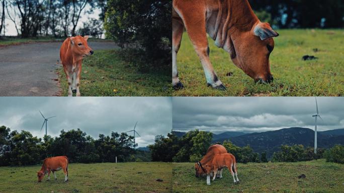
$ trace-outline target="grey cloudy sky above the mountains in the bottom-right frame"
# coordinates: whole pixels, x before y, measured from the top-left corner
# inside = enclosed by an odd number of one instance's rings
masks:
[[[317,98],[318,130],[344,128],[344,98]],[[261,132],[289,127],[314,129],[314,97],[173,98],[173,129]]]

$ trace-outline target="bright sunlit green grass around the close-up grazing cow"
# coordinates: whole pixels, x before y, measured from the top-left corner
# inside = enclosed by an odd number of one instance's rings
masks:
[[[178,53],[178,72],[185,89],[175,96],[343,96],[344,30],[277,30],[275,50],[270,56],[274,82],[255,84],[253,79],[234,66],[229,54],[217,48],[209,38],[210,59],[227,87],[214,90],[206,85],[201,62],[187,33]],[[319,51],[314,52],[317,48]],[[318,60],[302,61],[314,55]],[[233,72],[232,76],[226,76]]]

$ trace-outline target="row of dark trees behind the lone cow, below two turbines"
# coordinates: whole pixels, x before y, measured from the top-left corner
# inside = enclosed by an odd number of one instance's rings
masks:
[[[112,132],[94,139],[80,129],[62,130],[58,137],[33,137],[28,131],[10,132],[0,127],[0,165],[33,165],[46,157],[66,155],[70,163],[149,161],[149,153],[133,149],[133,136]]]

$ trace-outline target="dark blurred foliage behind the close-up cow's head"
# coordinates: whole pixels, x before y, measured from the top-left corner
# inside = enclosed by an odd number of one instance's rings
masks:
[[[341,28],[344,27],[344,1],[249,0],[253,10],[271,14],[280,28]]]

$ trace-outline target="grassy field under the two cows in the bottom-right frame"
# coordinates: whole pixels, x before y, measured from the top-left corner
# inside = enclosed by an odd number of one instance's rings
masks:
[[[173,192],[343,192],[344,164],[324,159],[295,163],[238,164],[239,184],[227,169],[223,178],[206,184],[196,178],[194,163],[173,164]],[[305,178],[298,178],[304,173]]]

